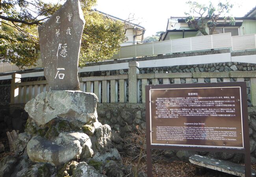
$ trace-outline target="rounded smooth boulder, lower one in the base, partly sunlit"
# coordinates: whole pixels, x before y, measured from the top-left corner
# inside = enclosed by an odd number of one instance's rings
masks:
[[[34,136],[27,145],[28,157],[33,162],[49,162],[59,166],[78,157],[93,156],[91,140],[85,133],[60,133],[55,141]]]

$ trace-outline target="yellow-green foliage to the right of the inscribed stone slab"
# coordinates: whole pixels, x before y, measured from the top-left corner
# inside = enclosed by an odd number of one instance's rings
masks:
[[[103,18],[97,12],[85,15],[85,21],[80,66],[84,66],[86,61],[95,62],[112,57],[125,40],[124,23],[121,21]]]

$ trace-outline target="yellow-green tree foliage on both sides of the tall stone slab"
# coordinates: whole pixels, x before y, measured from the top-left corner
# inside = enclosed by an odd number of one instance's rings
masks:
[[[79,65],[113,55],[124,41],[124,24],[91,11],[96,0],[80,0],[86,20],[82,35]],[[0,0],[0,57],[20,68],[35,66],[39,49],[37,27],[61,4],[44,0]]]

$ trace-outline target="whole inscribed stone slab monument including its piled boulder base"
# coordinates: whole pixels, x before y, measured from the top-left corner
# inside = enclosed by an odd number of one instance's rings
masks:
[[[0,177],[123,176],[120,154],[111,148],[111,128],[97,119],[98,98],[79,90],[84,23],[79,0],[67,0],[39,27],[41,57],[51,91],[26,103],[25,132],[14,142],[16,157],[0,161]]]

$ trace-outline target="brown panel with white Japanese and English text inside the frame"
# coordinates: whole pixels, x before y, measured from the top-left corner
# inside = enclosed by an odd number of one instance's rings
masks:
[[[150,89],[151,144],[243,148],[241,87]]]

